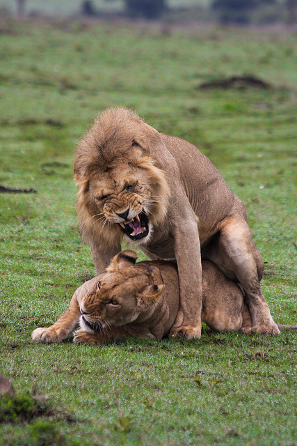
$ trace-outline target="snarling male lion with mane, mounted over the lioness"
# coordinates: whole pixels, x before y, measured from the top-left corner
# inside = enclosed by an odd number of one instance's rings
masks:
[[[122,238],[150,259],[177,261],[173,334],[200,337],[201,254],[243,286],[255,330],[280,333],[260,289],[264,263],[246,209],[198,148],[111,108],[81,139],[74,174],[81,233],[97,274],[120,252]]]

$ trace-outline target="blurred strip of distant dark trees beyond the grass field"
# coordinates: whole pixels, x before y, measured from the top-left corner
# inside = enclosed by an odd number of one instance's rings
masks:
[[[297,0],[0,0],[2,14],[162,19],[166,22],[294,24]]]

